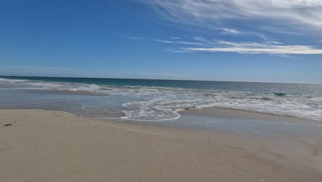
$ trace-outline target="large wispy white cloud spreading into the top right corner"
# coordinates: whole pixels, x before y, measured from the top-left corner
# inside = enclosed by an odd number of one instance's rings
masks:
[[[226,21],[249,20],[258,26],[322,30],[321,0],[151,0],[149,4],[169,21],[195,26],[218,29]]]

